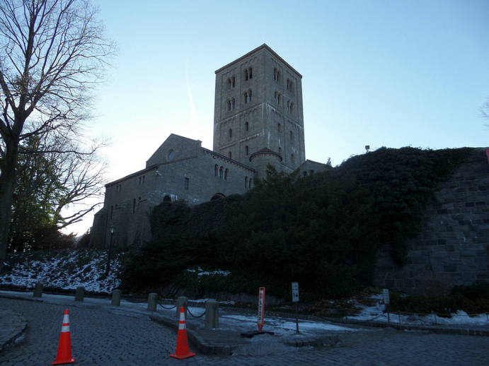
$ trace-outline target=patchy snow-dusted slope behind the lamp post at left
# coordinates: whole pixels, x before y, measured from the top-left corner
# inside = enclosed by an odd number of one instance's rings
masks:
[[[80,249],[63,250],[54,256],[33,253],[11,257],[11,268],[0,276],[0,285],[33,288],[35,283],[41,282],[45,287],[66,290],[84,286],[85,290],[96,293],[110,293],[120,285],[117,278],[120,254],[113,256],[107,277],[106,252]]]

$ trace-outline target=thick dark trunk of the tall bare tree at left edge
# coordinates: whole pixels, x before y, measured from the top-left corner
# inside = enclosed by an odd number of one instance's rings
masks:
[[[8,232],[12,216],[13,186],[16,181],[18,143],[7,143],[0,175],[0,273],[6,259]]]

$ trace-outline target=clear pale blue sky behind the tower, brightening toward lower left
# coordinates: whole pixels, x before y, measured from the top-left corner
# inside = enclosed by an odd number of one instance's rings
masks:
[[[119,49],[88,123],[108,181],[171,133],[212,149],[214,71],[263,43],[303,76],[307,159],[489,146],[489,0],[93,2]]]

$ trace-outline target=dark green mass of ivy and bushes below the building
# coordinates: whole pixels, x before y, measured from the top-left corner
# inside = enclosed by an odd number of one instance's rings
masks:
[[[244,196],[161,203],[151,213],[154,240],[127,256],[124,285],[161,288],[201,265],[234,273],[234,292],[261,281],[288,297],[299,281],[306,299],[347,295],[372,283],[379,246],[405,263],[427,202],[471,151],[380,148],[303,178],[270,169]]]

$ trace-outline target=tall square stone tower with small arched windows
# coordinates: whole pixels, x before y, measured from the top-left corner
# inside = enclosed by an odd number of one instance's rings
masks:
[[[214,151],[264,177],[305,160],[301,74],[263,44],[216,71]]]

